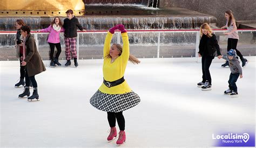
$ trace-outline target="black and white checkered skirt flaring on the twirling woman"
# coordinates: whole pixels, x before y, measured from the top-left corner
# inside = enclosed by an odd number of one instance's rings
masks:
[[[97,90],[90,99],[93,107],[108,112],[124,111],[134,107],[139,102],[139,95],[133,91],[125,94],[104,94]]]

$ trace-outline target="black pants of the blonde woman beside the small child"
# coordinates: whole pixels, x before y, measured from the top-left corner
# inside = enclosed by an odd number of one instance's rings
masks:
[[[202,72],[203,72],[203,82],[205,82],[206,80],[209,81],[210,84],[212,84],[212,78],[211,78],[211,74],[210,74],[210,66],[212,64],[212,60],[214,59],[214,56],[211,55],[206,55],[206,56],[202,56]]]

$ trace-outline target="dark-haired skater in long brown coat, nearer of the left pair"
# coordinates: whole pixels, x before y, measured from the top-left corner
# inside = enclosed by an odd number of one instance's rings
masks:
[[[23,60],[22,66],[25,67],[25,90],[19,97],[28,96],[28,101],[33,99],[39,99],[37,82],[35,79],[35,75],[46,71],[44,63],[40,54],[37,51],[36,42],[33,36],[30,34],[29,26],[22,26],[21,33],[23,36]],[[33,94],[30,96],[29,91],[29,79],[33,84]],[[30,96],[30,97],[29,97]]]

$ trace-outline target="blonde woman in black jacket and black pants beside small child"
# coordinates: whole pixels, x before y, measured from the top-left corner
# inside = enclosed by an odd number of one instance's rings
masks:
[[[220,47],[215,34],[212,33],[212,29],[207,23],[201,25],[200,34],[201,39],[198,56],[202,57],[203,81],[199,82],[197,86],[201,87],[202,90],[211,90],[212,78],[209,68],[215,57],[216,51],[218,58],[221,59]]]

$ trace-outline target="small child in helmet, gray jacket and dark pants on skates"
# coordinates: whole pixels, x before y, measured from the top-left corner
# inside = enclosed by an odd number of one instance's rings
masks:
[[[231,97],[237,96],[237,82],[238,77],[242,78],[242,67],[239,64],[238,57],[236,56],[235,50],[231,49],[227,52],[228,58],[223,57],[223,59],[228,61],[228,64],[230,66],[230,79],[228,80],[228,89],[224,91],[224,94],[230,94]]]

